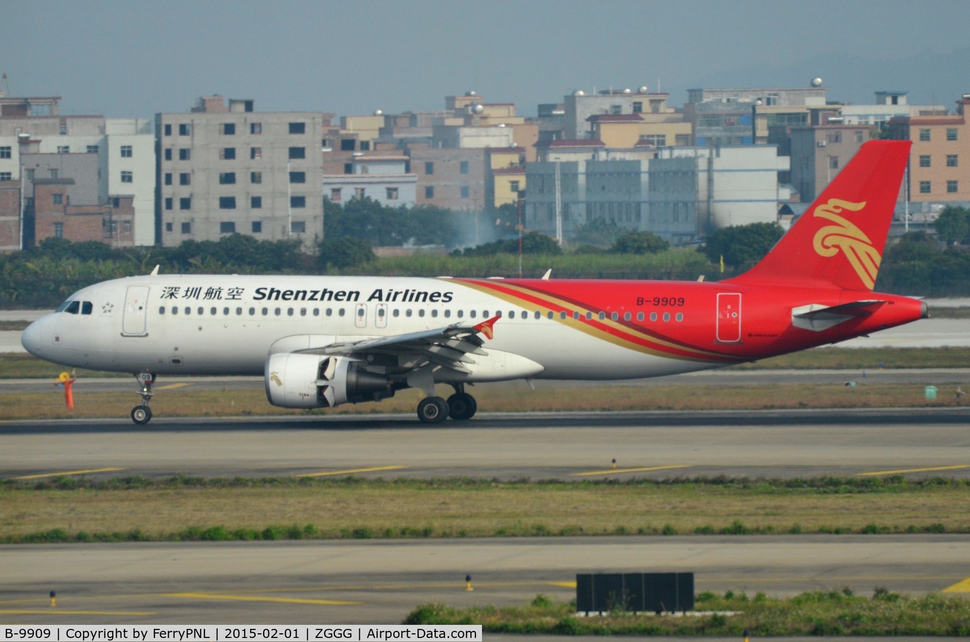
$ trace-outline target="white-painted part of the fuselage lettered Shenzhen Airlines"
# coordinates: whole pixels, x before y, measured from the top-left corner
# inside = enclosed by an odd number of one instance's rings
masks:
[[[69,304],[39,319],[22,342],[37,357],[87,369],[262,375],[275,352],[473,325],[498,313],[484,346],[490,356],[466,381],[714,367],[630,350],[447,278],[151,275],[92,285],[68,301],[79,302],[75,313]]]

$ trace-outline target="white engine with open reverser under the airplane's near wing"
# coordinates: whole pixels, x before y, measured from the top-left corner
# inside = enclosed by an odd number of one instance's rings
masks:
[[[387,376],[347,357],[279,352],[266,360],[266,397],[283,408],[328,408],[394,396]]]

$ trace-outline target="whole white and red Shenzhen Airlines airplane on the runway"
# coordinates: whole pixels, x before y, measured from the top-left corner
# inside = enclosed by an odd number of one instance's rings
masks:
[[[754,268],[720,282],[159,274],[85,287],[24,348],[132,372],[151,419],[163,375],[262,375],[287,408],[425,397],[420,421],[470,419],[466,386],[714,369],[928,316],[872,291],[910,143],[872,141]],[[548,276],[548,274],[547,274]],[[447,400],[436,385],[454,389]]]

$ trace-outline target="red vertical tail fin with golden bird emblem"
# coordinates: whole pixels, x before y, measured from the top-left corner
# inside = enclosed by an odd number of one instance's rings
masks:
[[[863,144],[767,256],[731,282],[815,281],[872,290],[910,145]]]

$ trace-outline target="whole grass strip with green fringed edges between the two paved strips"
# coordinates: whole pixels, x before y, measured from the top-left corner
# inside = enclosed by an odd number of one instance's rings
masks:
[[[970,532],[970,483],[63,478],[0,486],[5,543],[908,532]]]

